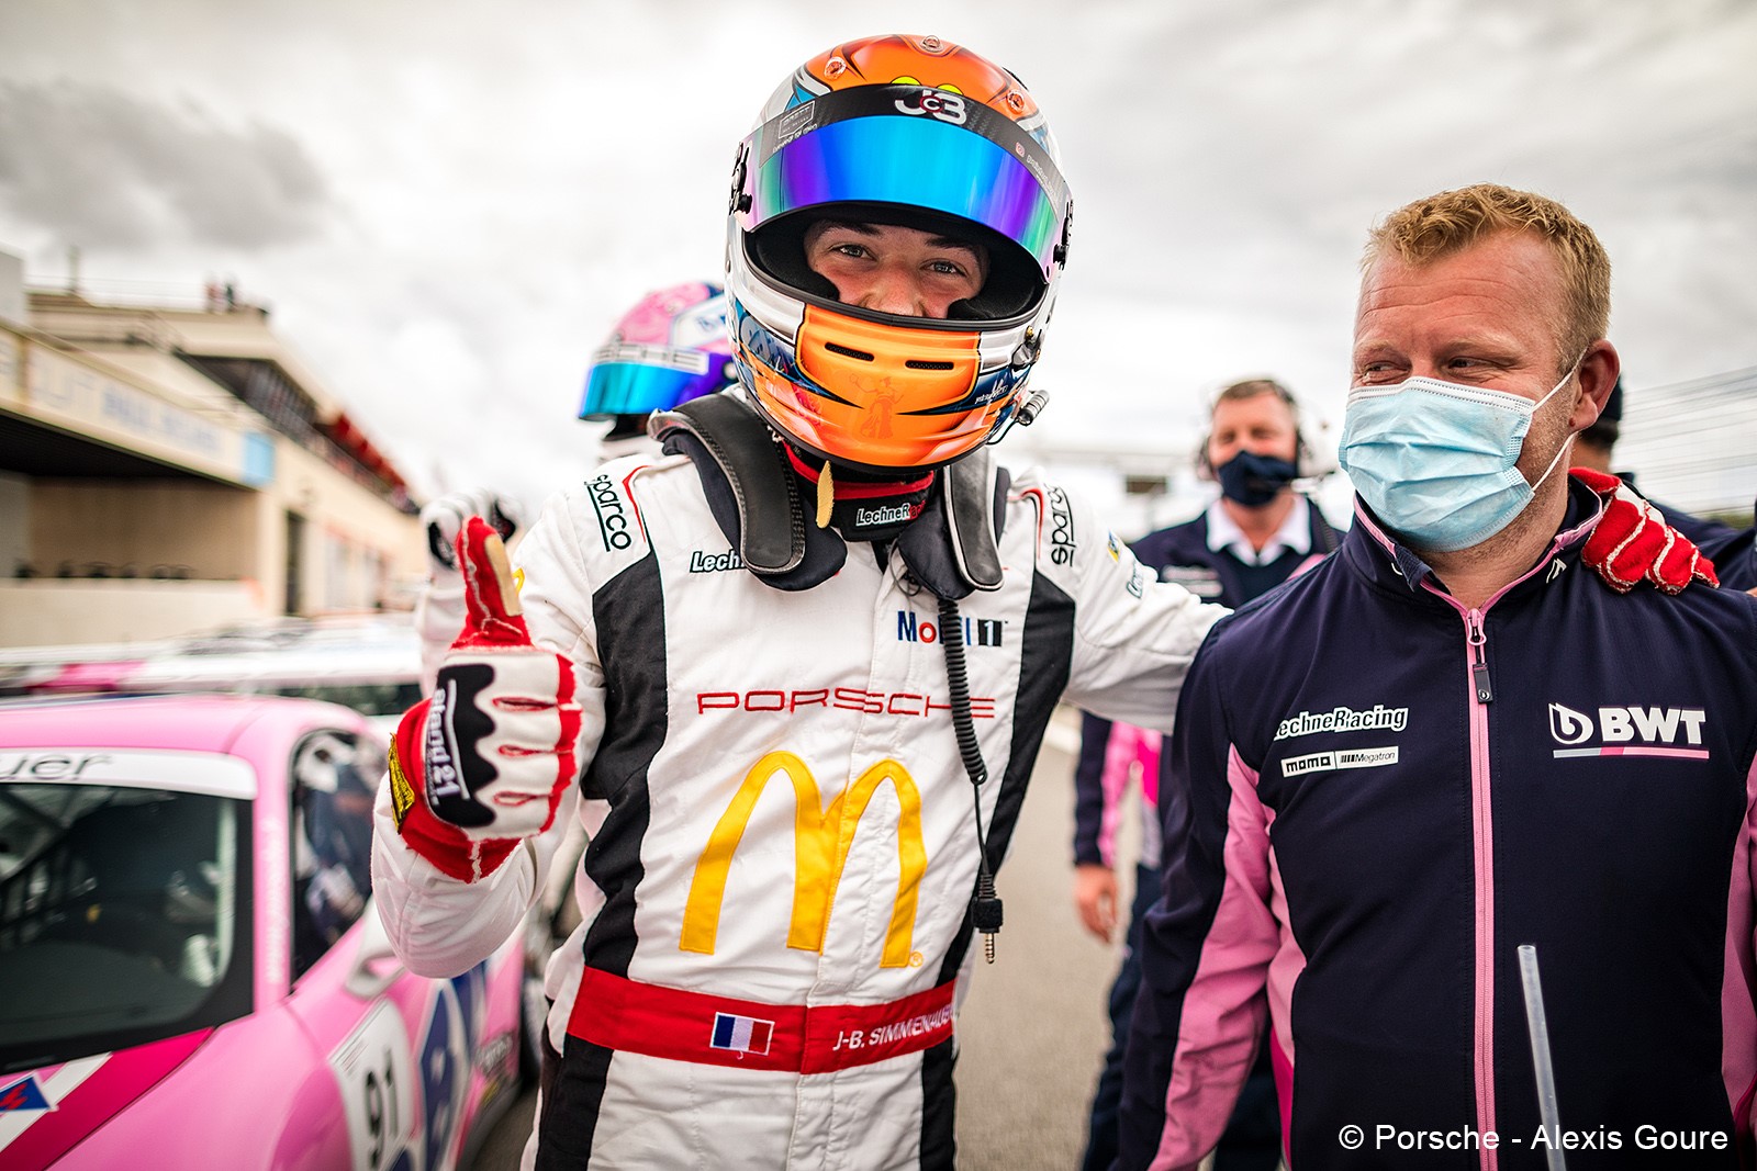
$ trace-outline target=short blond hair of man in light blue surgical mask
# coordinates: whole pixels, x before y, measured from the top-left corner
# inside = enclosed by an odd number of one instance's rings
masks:
[[[1495,232],[1530,232],[1555,253],[1562,305],[1555,321],[1557,372],[1611,323],[1611,258],[1592,228],[1551,198],[1478,183],[1399,207],[1367,237],[1362,269],[1381,256],[1421,265],[1462,253]]]

